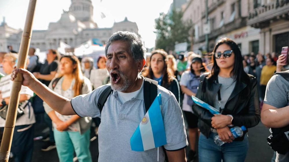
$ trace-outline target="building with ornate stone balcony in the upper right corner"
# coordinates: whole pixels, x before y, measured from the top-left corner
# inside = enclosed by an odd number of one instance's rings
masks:
[[[260,53],[280,54],[282,47],[289,46],[289,1],[251,1],[247,24],[260,29]]]

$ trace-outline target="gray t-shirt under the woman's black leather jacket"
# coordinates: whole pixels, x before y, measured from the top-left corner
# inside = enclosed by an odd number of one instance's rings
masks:
[[[231,93],[233,92],[233,89],[235,88],[236,79],[224,78],[224,77],[220,77],[218,75],[218,82],[219,82],[219,84],[222,84],[221,88],[220,88],[221,109],[224,109],[227,100],[229,99]],[[214,107],[216,109],[220,109],[219,101],[218,101],[218,93],[217,93],[216,97],[214,98]]]

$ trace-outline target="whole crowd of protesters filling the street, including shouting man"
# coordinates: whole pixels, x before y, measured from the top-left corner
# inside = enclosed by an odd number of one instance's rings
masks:
[[[194,52],[168,55],[163,49],[146,56],[142,39],[135,33],[122,31],[110,37],[105,56],[100,56],[96,64],[92,58],[61,56],[54,49],[47,51],[45,63],[40,64],[34,53],[35,49],[30,48],[27,70],[13,70],[17,54],[0,53],[5,73],[1,75],[0,88],[5,84],[9,91],[17,73],[22,73],[24,78],[19,104],[24,113],[17,117],[11,147],[15,161],[32,159],[33,125],[37,121],[34,114],[44,114],[49,126],[42,151],[56,148],[60,161],[73,161],[74,152],[78,161],[92,161],[91,154],[97,153],[90,153],[89,146],[91,134],[95,134],[99,161],[156,161],[158,158],[160,161],[241,162],[249,148],[247,130],[242,136],[234,137],[230,128],[254,127],[261,117],[268,127],[289,124],[289,121],[270,123],[273,119],[264,115],[270,114],[271,109],[288,107],[288,94],[282,96],[282,105],[272,101],[278,93],[273,78],[280,78],[274,73],[286,68],[282,63],[284,56],[278,58],[275,53],[242,56],[238,45],[229,38],[218,40],[212,55],[205,58]],[[106,69],[107,75],[94,75],[96,69]],[[100,83],[94,84],[95,80]],[[129,141],[146,114],[144,92],[152,93],[153,89],[146,87],[150,84],[162,94],[167,144],[160,150],[136,152],[131,150]],[[1,89],[3,106],[9,104],[10,97],[4,96],[7,93],[4,91]],[[104,92],[108,97],[101,105]],[[191,96],[221,114],[213,115],[195,104]],[[288,112],[286,108],[282,110]],[[276,119],[282,117],[276,115]],[[0,118],[1,127],[4,123],[5,119]],[[215,136],[225,144],[216,145]],[[187,146],[190,147],[186,153]],[[288,157],[288,153],[281,155],[277,151],[273,159],[286,161]]]

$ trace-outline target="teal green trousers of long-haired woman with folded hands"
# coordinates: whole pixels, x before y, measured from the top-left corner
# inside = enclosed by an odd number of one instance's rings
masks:
[[[80,134],[79,131],[60,132],[57,129],[53,132],[60,162],[73,161],[74,150],[79,162],[92,162],[89,150],[90,129],[84,134]]]

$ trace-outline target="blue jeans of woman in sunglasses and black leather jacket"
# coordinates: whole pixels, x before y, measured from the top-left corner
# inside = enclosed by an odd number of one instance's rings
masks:
[[[216,133],[210,133],[207,139],[202,133],[199,137],[199,162],[244,162],[249,147],[245,135],[243,141],[233,141],[218,146],[214,142]]]

